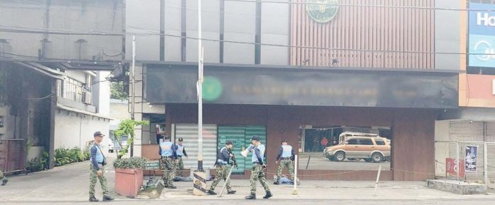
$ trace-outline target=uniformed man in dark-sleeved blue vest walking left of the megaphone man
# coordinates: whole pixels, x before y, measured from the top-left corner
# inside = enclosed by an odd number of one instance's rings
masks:
[[[228,173],[229,173],[229,166],[234,165],[234,162],[230,162],[230,159],[234,156],[230,150],[232,150],[232,141],[227,141],[225,142],[225,147],[222,147],[218,151],[217,154],[217,161],[215,163],[216,167],[216,174],[215,174],[215,179],[213,180],[213,184],[211,184],[210,189],[208,189],[208,194],[210,195],[216,195],[215,193],[215,187],[217,186],[218,182],[220,182],[221,179],[227,183],[225,186],[227,186],[227,194],[235,194],[235,190],[232,190],[232,187],[230,186],[230,180],[227,180]]]

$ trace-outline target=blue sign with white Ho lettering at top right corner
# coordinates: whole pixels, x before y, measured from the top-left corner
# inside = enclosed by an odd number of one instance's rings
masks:
[[[469,9],[469,66],[495,68],[495,4]]]

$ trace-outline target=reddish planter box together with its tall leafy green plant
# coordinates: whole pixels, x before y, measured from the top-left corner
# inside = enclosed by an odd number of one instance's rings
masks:
[[[115,130],[117,142],[122,147],[122,136],[129,136],[126,146],[117,153],[114,161],[115,168],[115,192],[122,196],[135,197],[137,191],[143,185],[143,168],[146,159],[141,157],[122,158],[132,146],[134,141],[134,127],[138,125],[148,125],[148,121],[124,120],[120,122],[119,129]]]

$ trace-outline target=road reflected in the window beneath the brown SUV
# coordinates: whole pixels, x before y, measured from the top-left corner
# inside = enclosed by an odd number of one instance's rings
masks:
[[[311,159],[309,159],[311,156]],[[309,164],[308,164],[309,159]],[[307,166],[308,165],[308,166]],[[358,161],[331,162],[321,153],[304,153],[299,157],[299,170],[301,169],[316,169],[316,170],[378,170],[379,166],[382,170],[390,170],[390,162],[364,162],[363,159]]]

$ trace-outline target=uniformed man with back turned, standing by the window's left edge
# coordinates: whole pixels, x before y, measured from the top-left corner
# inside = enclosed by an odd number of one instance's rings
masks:
[[[294,181],[294,156],[292,146],[287,144],[287,140],[283,140],[277,159],[275,159],[275,164],[279,164],[279,167],[277,169],[277,181],[273,182],[273,184],[280,184],[280,177],[282,177],[282,171],[284,171],[285,167],[289,169],[292,181]]]

